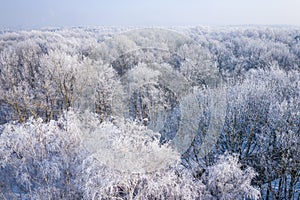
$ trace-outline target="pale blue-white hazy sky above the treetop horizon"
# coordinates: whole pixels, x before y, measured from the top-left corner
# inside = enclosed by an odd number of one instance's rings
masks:
[[[297,25],[300,0],[0,0],[0,29]]]

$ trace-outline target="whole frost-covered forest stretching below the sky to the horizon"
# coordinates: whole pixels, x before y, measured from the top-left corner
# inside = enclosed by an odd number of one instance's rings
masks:
[[[300,29],[0,32],[0,199],[300,199]]]

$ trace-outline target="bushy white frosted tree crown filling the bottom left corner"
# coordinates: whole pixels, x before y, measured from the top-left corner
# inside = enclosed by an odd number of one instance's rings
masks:
[[[86,156],[81,137],[74,121],[64,117],[49,123],[30,118],[23,124],[4,125],[0,135],[3,198],[80,198],[78,177]]]

